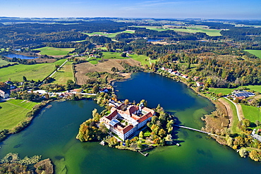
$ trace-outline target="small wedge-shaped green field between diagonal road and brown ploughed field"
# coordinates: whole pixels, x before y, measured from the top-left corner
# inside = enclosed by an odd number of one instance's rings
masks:
[[[52,83],[58,83],[61,85],[66,85],[67,80],[74,81],[73,75],[73,62],[67,62],[58,72],[56,72],[52,77],[54,77],[55,81]]]

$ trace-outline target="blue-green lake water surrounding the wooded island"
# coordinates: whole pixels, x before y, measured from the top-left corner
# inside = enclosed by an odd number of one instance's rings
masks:
[[[149,107],[161,104],[182,125],[200,129],[200,118],[214,110],[186,85],[153,73],[135,73],[130,80],[115,82],[119,99],[147,100]],[[260,173],[261,164],[242,159],[200,132],[175,130],[181,147],[157,147],[145,157],[133,151],[102,147],[99,142],[75,139],[92,110],[102,111],[94,101],[52,102],[22,132],[0,143],[0,158],[9,152],[20,157],[40,154],[56,165],[56,173]]]

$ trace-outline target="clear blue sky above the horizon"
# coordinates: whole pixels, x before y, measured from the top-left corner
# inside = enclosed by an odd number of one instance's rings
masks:
[[[1,0],[0,16],[261,19],[261,0]]]

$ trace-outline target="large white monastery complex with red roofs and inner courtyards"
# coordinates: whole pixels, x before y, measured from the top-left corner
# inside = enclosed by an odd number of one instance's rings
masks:
[[[140,106],[129,105],[125,108],[125,104],[118,104],[110,101],[112,106],[111,113],[101,118],[100,123],[113,133],[125,140],[132,135],[138,134],[139,129],[149,122],[155,112],[140,104]]]

